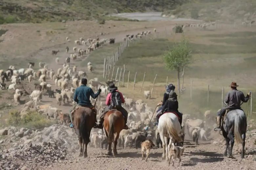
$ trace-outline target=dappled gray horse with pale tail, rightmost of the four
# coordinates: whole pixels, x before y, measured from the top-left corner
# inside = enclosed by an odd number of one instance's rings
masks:
[[[223,136],[226,140],[224,156],[232,157],[232,149],[234,146],[235,137],[237,143],[242,143],[241,158],[245,157],[244,150],[246,128],[246,116],[243,110],[236,109],[227,113],[225,123],[222,125]]]

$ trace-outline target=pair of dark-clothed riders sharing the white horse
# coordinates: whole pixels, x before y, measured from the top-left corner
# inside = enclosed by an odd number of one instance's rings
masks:
[[[158,125],[160,116],[165,112],[175,112],[179,117],[179,122],[182,123],[182,114],[178,111],[179,103],[177,101],[177,94],[174,92],[175,86],[172,84],[171,90],[169,92],[168,100],[162,105],[161,110],[157,114],[157,122],[155,125]]]

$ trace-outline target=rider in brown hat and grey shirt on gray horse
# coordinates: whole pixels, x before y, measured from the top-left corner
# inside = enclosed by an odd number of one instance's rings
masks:
[[[230,87],[231,87],[231,90],[226,94],[226,97],[224,99],[224,103],[226,104],[226,106],[217,112],[217,117],[216,117],[217,127],[214,128],[215,131],[222,130],[221,118],[226,112],[226,110],[229,110],[229,111],[236,110],[236,109],[242,110],[241,101],[246,103],[250,99],[251,92],[249,92],[245,97],[242,91],[237,90],[236,87],[238,87],[238,85],[236,85],[236,82],[232,82]]]

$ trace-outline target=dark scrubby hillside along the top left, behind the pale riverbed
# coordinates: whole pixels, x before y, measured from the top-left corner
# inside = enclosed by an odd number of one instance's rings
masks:
[[[1,0],[0,24],[63,20],[118,19],[119,12],[174,9],[182,0]]]

